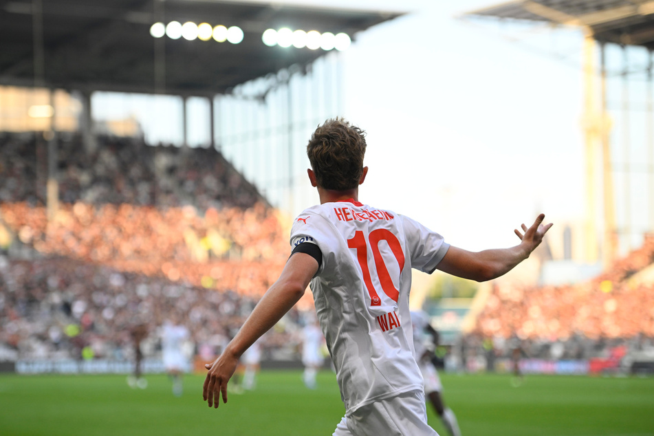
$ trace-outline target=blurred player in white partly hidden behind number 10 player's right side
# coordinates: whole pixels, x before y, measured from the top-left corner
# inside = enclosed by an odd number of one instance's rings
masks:
[[[424,393],[450,435],[461,436],[456,415],[443,401],[443,384],[433,363],[434,350],[439,342],[438,332],[431,326],[429,316],[422,310],[411,311],[411,324],[415,361],[424,379]]]

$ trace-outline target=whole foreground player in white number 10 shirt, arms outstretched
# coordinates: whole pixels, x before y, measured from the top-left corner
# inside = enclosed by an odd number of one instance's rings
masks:
[[[422,375],[413,357],[408,294],[411,268],[436,268],[486,281],[510,271],[541,243],[551,224],[544,215],[521,242],[469,252],[449,246],[417,221],[363,204],[359,185],[365,133],[349,122],[327,120],[307,145],[312,186],[320,204],[305,209],[291,230],[292,254],[279,279],[214,362],[206,364],[203,396],[209,407],[227,402],[227,384],[239,356],[303,296],[311,283],[345,417],[334,435],[435,435],[427,424]],[[427,201],[422,199],[421,201]]]

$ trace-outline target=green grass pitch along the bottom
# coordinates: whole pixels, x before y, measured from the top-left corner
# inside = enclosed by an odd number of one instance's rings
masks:
[[[299,371],[263,371],[257,389],[208,408],[202,375],[174,397],[165,375],[0,375],[0,435],[331,435],[344,413],[333,373],[305,389]],[[654,435],[654,378],[442,374],[464,436]],[[428,408],[430,424],[446,436]],[[382,435],[378,435],[382,436]]]

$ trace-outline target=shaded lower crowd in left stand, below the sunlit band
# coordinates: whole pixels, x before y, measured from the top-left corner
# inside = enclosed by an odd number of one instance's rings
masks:
[[[0,348],[22,359],[79,360],[85,347],[94,358],[130,359],[130,331],[146,325],[142,348],[153,356],[160,340],[157,327],[177,313],[195,347],[210,349],[210,355],[226,345],[257,300],[63,257],[2,257]],[[298,316],[291,312],[283,328],[268,334],[269,347],[285,345],[294,351]]]

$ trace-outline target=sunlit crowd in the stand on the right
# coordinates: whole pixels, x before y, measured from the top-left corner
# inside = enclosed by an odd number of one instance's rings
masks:
[[[539,358],[606,355],[654,347],[654,237],[594,279],[560,286],[495,285],[477,316],[469,348],[508,356],[516,344]],[[650,268],[650,270],[648,270]],[[492,340],[484,344],[483,338]]]

